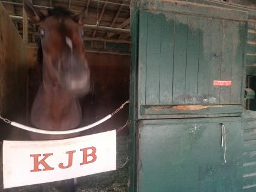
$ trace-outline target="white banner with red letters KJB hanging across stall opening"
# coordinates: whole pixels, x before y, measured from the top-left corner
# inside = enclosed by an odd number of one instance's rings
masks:
[[[116,170],[116,130],[52,141],[4,141],[4,188]]]

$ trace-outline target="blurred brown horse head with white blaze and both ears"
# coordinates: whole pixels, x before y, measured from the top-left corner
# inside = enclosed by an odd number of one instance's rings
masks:
[[[62,7],[43,14],[24,0],[28,17],[39,25],[43,52],[43,85],[67,91],[72,96],[86,94],[90,70],[84,53],[83,25],[87,10],[73,15]]]

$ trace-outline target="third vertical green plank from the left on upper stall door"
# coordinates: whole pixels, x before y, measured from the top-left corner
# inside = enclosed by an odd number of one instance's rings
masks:
[[[169,19],[164,15],[161,22],[161,54],[160,54],[160,84],[159,104],[168,105],[172,102],[173,52],[174,52],[174,17],[170,13]],[[172,19],[170,19],[172,18]]]

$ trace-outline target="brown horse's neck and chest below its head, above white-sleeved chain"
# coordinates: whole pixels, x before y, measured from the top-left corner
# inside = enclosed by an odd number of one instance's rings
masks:
[[[33,102],[31,121],[43,129],[75,128],[81,122],[80,104],[61,88],[43,84]]]

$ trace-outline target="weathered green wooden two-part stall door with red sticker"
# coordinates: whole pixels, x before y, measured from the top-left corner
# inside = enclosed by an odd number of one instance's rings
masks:
[[[247,12],[173,0],[131,10],[130,191],[245,190]]]

